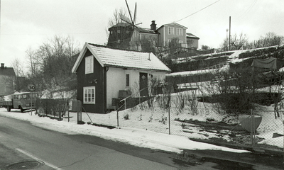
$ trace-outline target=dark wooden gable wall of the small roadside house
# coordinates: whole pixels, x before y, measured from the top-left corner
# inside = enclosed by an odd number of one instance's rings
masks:
[[[94,73],[85,74],[85,57],[92,55],[87,50],[82,62],[77,69],[77,100],[82,101],[82,111],[89,113],[105,113],[106,111],[106,86],[105,86],[105,72],[106,68],[102,67],[101,64],[94,58]],[[97,84],[94,80],[97,79]],[[95,91],[95,104],[84,104],[84,91],[83,88],[86,86],[96,86]]]

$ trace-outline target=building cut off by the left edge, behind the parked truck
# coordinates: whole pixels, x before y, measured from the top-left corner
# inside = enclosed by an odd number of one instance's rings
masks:
[[[13,70],[13,67],[5,67],[4,63],[1,63],[0,96],[13,94],[15,79],[16,79],[16,74]]]

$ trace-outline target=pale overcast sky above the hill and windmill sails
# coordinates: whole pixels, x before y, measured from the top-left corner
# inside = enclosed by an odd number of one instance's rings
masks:
[[[132,12],[135,2],[140,27],[178,21],[200,38],[200,47],[221,45],[229,16],[231,35],[245,33],[249,40],[268,32],[284,35],[283,0],[128,0]],[[70,35],[81,47],[104,45],[109,18],[120,8],[126,10],[124,0],[1,0],[0,62],[11,66],[16,57],[25,62],[28,47],[36,50],[54,35]]]

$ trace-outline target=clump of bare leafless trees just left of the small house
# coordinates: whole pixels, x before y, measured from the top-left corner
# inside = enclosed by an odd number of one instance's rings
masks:
[[[80,52],[79,42],[70,37],[55,35],[40,45],[37,50],[26,50],[28,77],[38,89],[76,89],[76,77],[71,69],[73,56]]]

